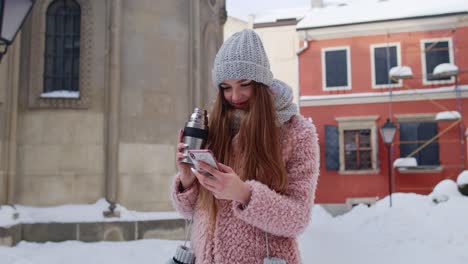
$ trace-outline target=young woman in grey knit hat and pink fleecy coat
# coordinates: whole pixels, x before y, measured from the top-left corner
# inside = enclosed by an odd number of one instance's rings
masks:
[[[310,221],[319,174],[313,124],[297,114],[292,91],[274,80],[258,35],[229,38],[213,66],[218,96],[210,113],[208,148],[220,170],[207,177],[180,162],[174,207],[193,218],[196,263],[300,263],[297,236]]]

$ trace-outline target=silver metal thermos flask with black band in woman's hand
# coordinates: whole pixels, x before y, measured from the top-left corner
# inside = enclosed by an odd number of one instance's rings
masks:
[[[203,149],[208,139],[208,113],[206,110],[196,107],[185,123],[183,142],[188,145],[184,154],[188,154],[189,149]],[[187,156],[182,160],[184,163],[193,164]]]

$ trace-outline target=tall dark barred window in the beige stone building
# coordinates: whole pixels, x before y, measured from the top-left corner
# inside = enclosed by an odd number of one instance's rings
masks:
[[[55,0],[47,8],[44,93],[80,91],[80,23],[75,0]]]

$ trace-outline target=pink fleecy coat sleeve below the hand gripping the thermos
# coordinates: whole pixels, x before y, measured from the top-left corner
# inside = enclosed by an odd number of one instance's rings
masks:
[[[198,183],[194,182],[189,188],[179,190],[180,185],[180,176],[177,174],[174,177],[171,188],[171,200],[174,208],[179,212],[184,218],[192,218],[195,204],[198,198]]]

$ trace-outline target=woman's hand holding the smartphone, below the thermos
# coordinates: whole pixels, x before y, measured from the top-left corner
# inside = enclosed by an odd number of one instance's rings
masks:
[[[247,204],[250,201],[251,191],[249,185],[242,181],[234,170],[224,164],[218,163],[221,170],[200,162],[200,168],[214,177],[206,176],[196,170],[192,170],[195,176],[206,189],[211,191],[217,199],[237,201]]]

